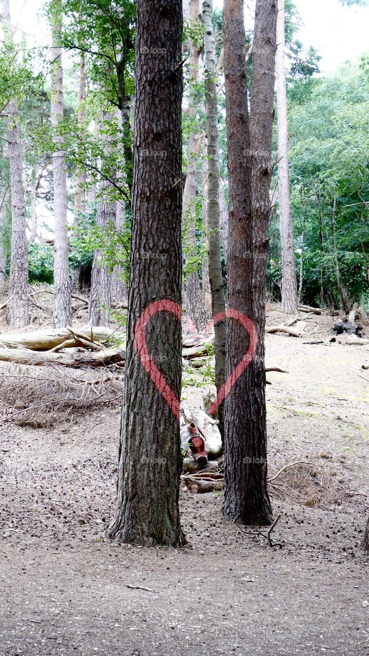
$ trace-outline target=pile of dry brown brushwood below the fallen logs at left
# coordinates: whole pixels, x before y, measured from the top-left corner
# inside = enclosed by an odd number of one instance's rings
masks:
[[[49,428],[98,405],[119,405],[123,377],[115,371],[68,371],[65,367],[1,366],[0,400],[5,419],[18,426]]]

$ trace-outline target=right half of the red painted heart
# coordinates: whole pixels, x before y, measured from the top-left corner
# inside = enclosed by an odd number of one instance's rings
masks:
[[[250,344],[248,351],[242,360],[238,363],[230,376],[228,376],[227,380],[221,386],[216,400],[211,403],[211,406],[209,407],[209,415],[214,415],[216,413],[219,405],[223,403],[232,387],[240,378],[240,375],[244,373],[245,369],[247,369],[248,365],[250,365],[257,347],[257,331],[251,319],[249,319],[246,314],[242,314],[242,312],[239,312],[238,310],[232,310],[229,308],[227,312],[219,312],[218,314],[215,314],[213,317],[214,325],[215,323],[218,323],[218,321],[223,321],[226,316],[229,319],[236,319],[236,321],[238,321],[238,323],[240,323],[244,329],[248,331]]]

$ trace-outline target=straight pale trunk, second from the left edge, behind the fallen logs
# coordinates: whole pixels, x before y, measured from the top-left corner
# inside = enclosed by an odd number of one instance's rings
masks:
[[[54,328],[64,328],[72,323],[72,291],[69,275],[67,210],[68,195],[64,169],[63,139],[59,124],[63,120],[63,69],[62,49],[59,45],[62,29],[60,0],[52,5],[51,47],[51,125],[53,126],[53,180],[54,180]]]

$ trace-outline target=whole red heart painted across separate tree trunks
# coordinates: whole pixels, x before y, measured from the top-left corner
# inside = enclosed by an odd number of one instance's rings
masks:
[[[153,316],[158,314],[158,312],[163,311],[171,312],[171,314],[174,314],[174,316],[179,319],[179,321],[181,320],[181,306],[178,303],[175,303],[173,300],[155,300],[154,302],[150,303],[150,305],[148,305],[147,308],[145,308],[145,310],[142,312],[141,317],[138,319],[135,325],[135,349],[141,360],[142,366],[147,371],[150,379],[156,386],[156,389],[160,392],[160,394],[162,394],[163,399],[167,402],[173,411],[173,415],[179,419],[179,400],[175,396],[173,390],[171,390],[167,384],[163,374],[160,373],[158,367],[148,352],[146,344],[146,325],[148,324],[148,321],[150,321]],[[221,386],[216,400],[211,404],[209,408],[210,415],[213,415],[217,411],[218,406],[225,400],[227,394],[229,394],[232,387],[236,384],[236,381],[240,378],[240,375],[245,371],[248,365],[250,365],[257,347],[257,331],[251,319],[249,319],[245,314],[242,314],[242,312],[239,312],[238,310],[229,309],[227,312],[219,312],[214,316],[214,325],[215,323],[225,319],[226,316],[230,319],[236,319],[236,321],[238,321],[238,323],[240,323],[244,329],[248,331],[250,344],[244,358],[242,358],[230,376],[228,376],[225,383]]]

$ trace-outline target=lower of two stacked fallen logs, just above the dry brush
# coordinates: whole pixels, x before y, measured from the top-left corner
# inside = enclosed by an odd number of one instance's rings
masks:
[[[123,366],[125,352],[116,348],[100,348],[93,353],[85,351],[72,353],[55,353],[32,351],[28,348],[8,348],[0,345],[0,361],[14,362],[19,365],[63,365],[64,367],[101,367],[118,364]]]

